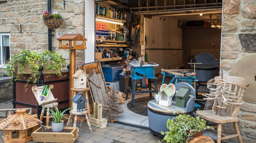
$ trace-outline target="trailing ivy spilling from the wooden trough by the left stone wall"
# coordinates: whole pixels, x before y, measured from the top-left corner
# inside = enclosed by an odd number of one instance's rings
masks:
[[[48,57],[51,58],[51,61],[48,63]],[[39,67],[42,66],[45,70],[52,70],[53,73],[57,74],[58,76],[62,77],[61,72],[58,70],[59,68],[65,68],[67,62],[64,60],[61,54],[59,53],[52,53],[46,50],[44,53],[39,53],[36,51],[30,50],[22,50],[20,53],[15,54],[11,57],[10,62],[6,64],[7,66],[7,73],[10,76],[15,76],[15,81],[17,80],[26,80],[27,83],[25,85],[26,91],[28,88],[28,83],[33,81],[33,84],[37,83],[39,79]],[[18,73],[13,73],[14,69],[19,66]],[[24,70],[30,69],[31,76],[25,77],[23,74],[27,74]]]

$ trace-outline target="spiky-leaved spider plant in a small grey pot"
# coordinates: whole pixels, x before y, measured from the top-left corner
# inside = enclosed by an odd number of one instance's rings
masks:
[[[46,106],[46,107],[49,108],[48,106]],[[53,132],[61,132],[63,130],[63,126],[64,126],[63,121],[61,121],[61,119],[67,118],[67,117],[63,117],[65,115],[68,115],[68,114],[64,114],[64,113],[71,108],[68,108],[68,109],[64,110],[63,112],[61,112],[61,110],[59,111],[58,109],[56,109],[56,107],[54,105],[53,105],[53,108],[55,109],[55,112],[50,108],[49,108],[50,111],[48,111],[47,109],[45,109],[45,110],[53,117],[54,121],[52,122],[52,131]]]

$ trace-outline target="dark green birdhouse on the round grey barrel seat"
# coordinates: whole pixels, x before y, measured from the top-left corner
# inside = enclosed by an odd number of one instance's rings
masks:
[[[176,93],[176,106],[185,108],[189,99],[189,87],[181,86],[180,90]]]

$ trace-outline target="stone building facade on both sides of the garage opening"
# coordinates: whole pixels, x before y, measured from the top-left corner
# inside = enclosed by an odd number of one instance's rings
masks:
[[[56,39],[66,33],[84,35],[85,0],[66,0],[65,9],[62,0],[54,2],[64,23],[52,32],[53,52],[61,52],[69,62],[69,50],[58,49]],[[48,29],[41,17],[46,10],[46,0],[0,0],[0,32],[10,32],[11,55],[23,49],[38,52],[48,49]],[[238,124],[243,141],[256,143],[256,1],[223,0],[222,19],[221,70],[224,75],[244,77],[250,82]],[[21,24],[22,33],[11,22]],[[76,51],[76,60],[77,64],[84,62],[84,50]],[[0,68],[0,72],[5,70]],[[224,134],[235,132],[231,126],[233,124],[223,124]],[[229,142],[237,142],[237,138]]]

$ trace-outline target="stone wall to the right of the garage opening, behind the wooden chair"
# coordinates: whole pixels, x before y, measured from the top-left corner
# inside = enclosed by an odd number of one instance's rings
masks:
[[[250,86],[245,90],[241,105],[239,130],[243,142],[256,142],[256,3],[255,0],[224,0],[222,23],[221,70],[224,75],[240,76]],[[225,134],[232,134],[233,124],[223,124]],[[232,138],[229,142],[236,142]]]

